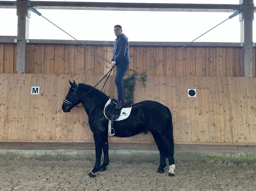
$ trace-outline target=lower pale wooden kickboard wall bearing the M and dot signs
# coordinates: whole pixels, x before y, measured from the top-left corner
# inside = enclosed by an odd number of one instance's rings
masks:
[[[0,141],[93,142],[83,107],[61,110],[69,80],[95,85],[102,75],[0,74]],[[104,92],[117,95],[110,77]],[[101,89],[102,84],[98,85]],[[39,86],[39,95],[30,95]],[[144,87],[136,81],[135,102],[150,99],[168,106],[176,144],[237,144],[256,142],[256,79],[246,77],[155,77]],[[188,97],[196,89],[197,97]],[[150,133],[110,142],[153,143]]]

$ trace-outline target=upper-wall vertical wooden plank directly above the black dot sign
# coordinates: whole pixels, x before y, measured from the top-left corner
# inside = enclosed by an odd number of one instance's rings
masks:
[[[196,76],[196,48],[186,48],[186,76]]]

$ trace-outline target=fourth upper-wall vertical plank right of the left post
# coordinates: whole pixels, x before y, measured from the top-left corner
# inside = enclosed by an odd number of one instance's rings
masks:
[[[63,45],[54,45],[54,74],[64,74]]]

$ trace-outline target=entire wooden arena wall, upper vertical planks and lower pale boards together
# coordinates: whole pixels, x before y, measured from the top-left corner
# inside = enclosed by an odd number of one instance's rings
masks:
[[[111,60],[112,46],[90,48]],[[133,71],[129,75],[142,73],[178,49],[131,46],[129,69]],[[93,147],[84,108],[64,113],[61,105],[69,80],[94,86],[110,70],[110,63],[83,46],[29,45],[29,74],[15,74],[15,51],[14,44],[0,44],[2,147],[6,143],[84,143]],[[255,76],[255,67],[253,70]],[[103,89],[110,98],[117,97],[113,74],[115,69]],[[256,144],[256,80],[240,77],[240,48],[187,47],[146,75],[146,86],[136,77],[134,102],[155,100],[170,108],[176,150],[182,145],[197,150],[189,145],[238,148]],[[39,95],[31,95],[31,87],[40,87]],[[188,89],[196,89],[196,97],[188,97]],[[128,149],[157,150],[150,132],[109,137],[109,142],[114,149],[125,144]]]

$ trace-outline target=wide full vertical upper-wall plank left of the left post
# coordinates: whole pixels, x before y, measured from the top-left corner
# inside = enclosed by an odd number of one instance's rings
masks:
[[[4,73],[13,73],[14,46],[12,44],[4,45]]]

